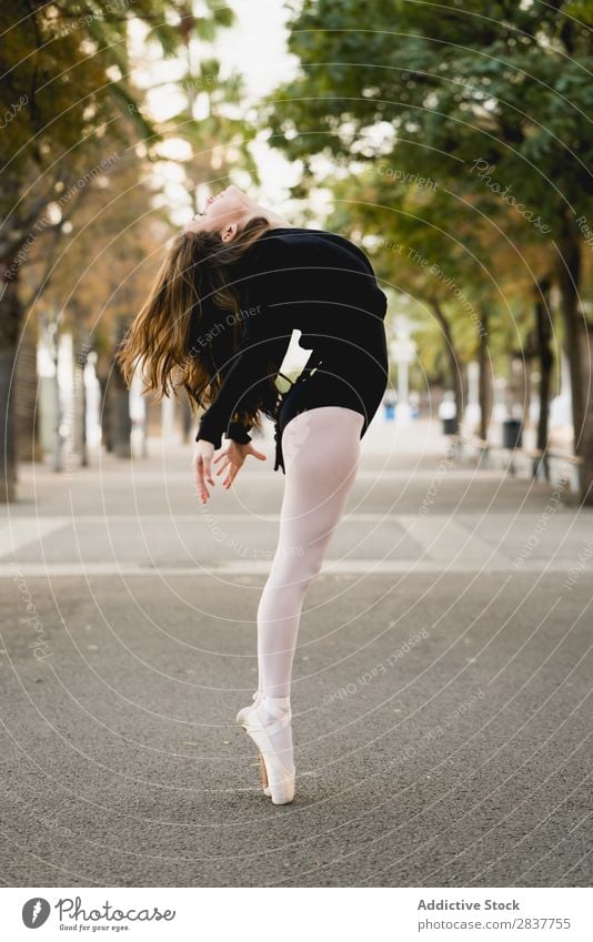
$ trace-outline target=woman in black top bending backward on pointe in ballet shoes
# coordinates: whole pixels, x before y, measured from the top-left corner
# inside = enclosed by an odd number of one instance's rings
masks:
[[[147,392],[184,387],[202,408],[193,469],[202,504],[275,423],[285,475],[278,546],[258,607],[259,688],[237,721],[259,749],[274,804],[294,797],[291,675],[304,595],[354,483],[360,439],[388,384],[386,297],[366,255],[332,232],[299,229],[231,185],[175,237],[119,353]],[[293,330],[311,351],[288,393],[277,379]],[[221,448],[222,435],[229,439]]]

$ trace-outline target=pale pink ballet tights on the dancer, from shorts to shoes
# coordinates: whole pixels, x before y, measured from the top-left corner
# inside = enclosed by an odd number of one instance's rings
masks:
[[[288,703],[304,595],[319,573],[354,483],[361,413],[319,406],[287,423],[280,535],[258,608],[259,687]]]

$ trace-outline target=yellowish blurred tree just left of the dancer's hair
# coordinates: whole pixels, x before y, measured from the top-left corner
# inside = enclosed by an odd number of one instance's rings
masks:
[[[171,231],[164,211],[152,205],[155,191],[148,173],[139,174],[139,169],[133,152],[122,154],[78,203],[58,250],[48,260],[42,246],[34,246],[26,272],[32,273],[36,285],[27,321],[57,312],[53,327],[72,335],[74,386],[80,393],[88,355],[97,353],[104,440],[108,450],[121,457],[130,454],[129,403],[114,352],[142,304]],[[82,408],[76,412],[71,429],[72,447],[82,458],[83,416]]]

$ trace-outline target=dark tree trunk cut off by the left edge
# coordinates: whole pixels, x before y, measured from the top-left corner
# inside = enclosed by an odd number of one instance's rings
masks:
[[[10,259],[0,263],[0,503],[17,496],[14,422],[16,363],[22,324],[18,278],[10,277]]]

